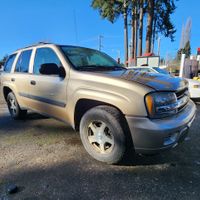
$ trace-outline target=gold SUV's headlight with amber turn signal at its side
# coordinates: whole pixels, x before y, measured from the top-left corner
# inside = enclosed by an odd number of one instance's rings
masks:
[[[173,92],[158,92],[146,95],[145,103],[149,117],[161,118],[177,112],[177,97]]]

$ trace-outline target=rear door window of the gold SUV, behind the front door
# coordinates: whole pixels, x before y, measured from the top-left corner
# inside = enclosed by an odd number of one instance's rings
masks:
[[[28,73],[32,50],[23,51],[17,61],[15,72]]]

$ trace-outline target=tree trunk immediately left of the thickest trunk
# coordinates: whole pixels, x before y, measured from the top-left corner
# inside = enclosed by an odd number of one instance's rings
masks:
[[[138,52],[139,56],[142,56],[142,43],[143,43],[143,16],[144,16],[144,1],[140,0],[140,18],[139,18],[139,42],[138,42]]]

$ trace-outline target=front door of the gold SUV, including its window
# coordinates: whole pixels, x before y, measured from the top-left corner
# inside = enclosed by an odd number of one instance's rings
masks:
[[[63,67],[61,59],[53,48],[40,47],[36,49],[30,79],[31,107],[40,113],[62,118],[61,115],[67,101],[67,76],[61,78],[57,73],[42,74],[41,68],[45,64],[50,64],[50,67],[52,65],[56,65],[58,68]]]

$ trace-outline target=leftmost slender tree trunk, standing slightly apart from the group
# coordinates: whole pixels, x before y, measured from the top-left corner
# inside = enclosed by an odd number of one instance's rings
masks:
[[[128,28],[127,28],[127,2],[124,0],[124,59],[125,65],[128,65]]]

